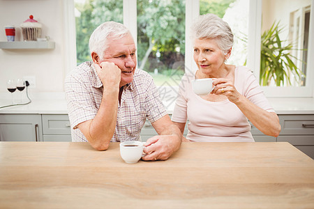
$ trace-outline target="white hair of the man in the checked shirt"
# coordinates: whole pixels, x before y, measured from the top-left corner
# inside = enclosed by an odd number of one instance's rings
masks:
[[[107,39],[119,39],[129,33],[126,26],[119,22],[104,22],[100,24],[89,38],[89,50],[96,52],[100,59],[103,59],[103,53],[108,47]]]

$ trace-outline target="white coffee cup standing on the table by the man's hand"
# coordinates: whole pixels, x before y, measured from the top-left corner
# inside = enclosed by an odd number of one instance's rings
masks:
[[[120,143],[120,155],[126,163],[138,162],[143,154],[142,141],[124,141]]]

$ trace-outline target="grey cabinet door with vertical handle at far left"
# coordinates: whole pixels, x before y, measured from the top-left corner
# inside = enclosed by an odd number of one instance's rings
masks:
[[[0,141],[42,141],[40,114],[0,114]]]

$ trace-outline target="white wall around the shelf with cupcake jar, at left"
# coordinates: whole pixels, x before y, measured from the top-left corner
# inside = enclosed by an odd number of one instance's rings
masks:
[[[30,88],[31,92],[62,92],[64,77],[69,71],[66,70],[62,0],[0,0],[0,41],[6,41],[4,26],[20,26],[29,15],[43,24],[42,37],[50,36],[55,49],[0,49],[0,93],[8,93],[8,79],[23,76],[36,77],[36,88]],[[15,40],[22,40],[20,28]]]

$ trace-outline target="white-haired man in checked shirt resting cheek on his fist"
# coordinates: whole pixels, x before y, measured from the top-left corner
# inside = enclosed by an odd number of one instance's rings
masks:
[[[123,24],[105,22],[91,34],[93,61],[78,65],[66,78],[72,141],[106,150],[110,141],[140,140],[148,118],[158,136],[144,144],[143,160],[167,160],[179,149],[182,134],[160,100],[153,78],[137,69],[136,47]]]

